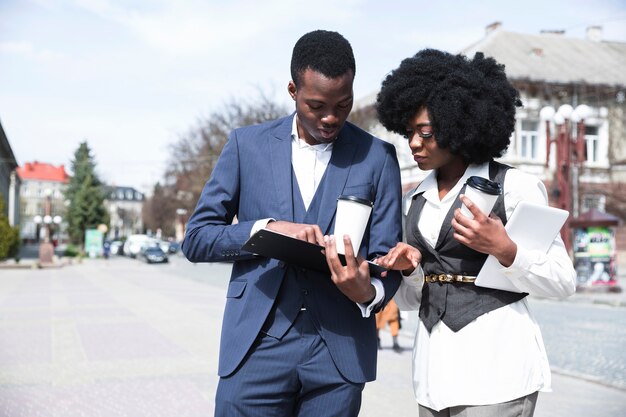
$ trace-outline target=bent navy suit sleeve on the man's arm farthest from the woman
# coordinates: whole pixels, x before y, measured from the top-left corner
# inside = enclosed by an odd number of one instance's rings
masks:
[[[254,222],[233,224],[239,207],[241,175],[236,132],[230,134],[189,218],[181,248],[192,262],[224,262],[253,257],[240,248],[250,237]]]

